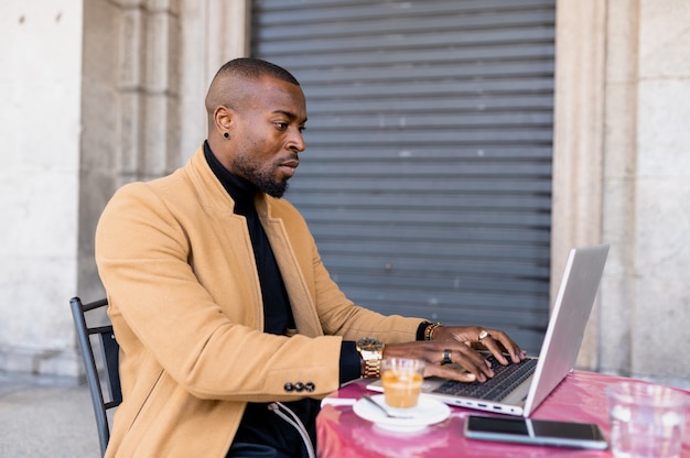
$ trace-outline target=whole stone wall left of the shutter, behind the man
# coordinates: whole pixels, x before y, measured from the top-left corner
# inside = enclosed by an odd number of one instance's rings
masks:
[[[104,295],[98,217],[192,155],[248,19],[246,0],[0,3],[0,372],[80,377],[68,301]]]

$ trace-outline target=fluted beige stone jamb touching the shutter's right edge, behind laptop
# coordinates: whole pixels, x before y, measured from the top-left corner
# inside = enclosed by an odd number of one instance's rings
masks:
[[[606,3],[557,2],[551,297],[572,247],[602,241]],[[596,366],[596,306],[578,364]]]

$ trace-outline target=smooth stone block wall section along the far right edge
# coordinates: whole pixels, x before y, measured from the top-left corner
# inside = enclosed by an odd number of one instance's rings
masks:
[[[630,372],[690,389],[690,3],[639,18]]]

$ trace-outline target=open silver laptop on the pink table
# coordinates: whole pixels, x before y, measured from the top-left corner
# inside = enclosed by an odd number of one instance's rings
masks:
[[[575,364],[607,254],[608,244],[570,251],[538,358],[507,368],[495,361],[496,375],[485,383],[428,378],[422,392],[451,405],[531,415]],[[380,381],[368,388],[382,391]]]

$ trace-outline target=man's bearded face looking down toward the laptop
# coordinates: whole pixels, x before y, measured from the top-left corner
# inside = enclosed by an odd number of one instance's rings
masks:
[[[304,151],[306,102],[299,86],[262,78],[254,83],[247,106],[235,112],[229,159],[231,173],[273,197],[281,197]]]

